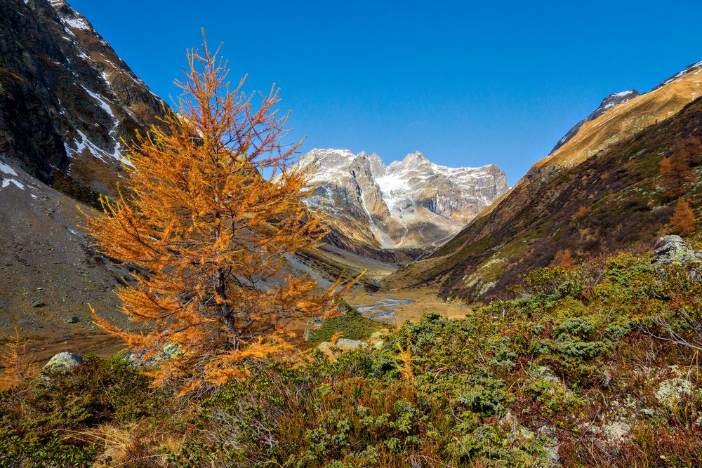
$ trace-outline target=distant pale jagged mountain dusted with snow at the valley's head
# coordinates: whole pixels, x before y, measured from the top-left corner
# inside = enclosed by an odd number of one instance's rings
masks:
[[[382,248],[441,245],[509,188],[497,166],[448,168],[419,152],[386,166],[377,154],[313,149],[300,164],[317,184],[308,203],[347,236]]]

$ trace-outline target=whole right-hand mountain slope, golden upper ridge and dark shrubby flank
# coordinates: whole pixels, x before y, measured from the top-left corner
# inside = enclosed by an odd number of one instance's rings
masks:
[[[674,200],[661,187],[661,159],[685,147],[700,172],[702,100],[671,114],[701,93],[698,71],[688,69],[653,95],[583,124],[460,234],[430,258],[389,276],[385,286],[434,281],[445,297],[475,300],[504,293],[531,268],[567,264],[665,234]],[[686,189],[698,209],[699,182]]]

